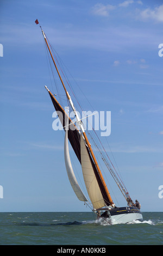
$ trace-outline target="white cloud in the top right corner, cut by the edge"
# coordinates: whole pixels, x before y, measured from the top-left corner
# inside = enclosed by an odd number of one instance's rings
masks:
[[[147,8],[141,12],[143,20],[153,19],[158,22],[163,22],[163,4],[154,9]]]

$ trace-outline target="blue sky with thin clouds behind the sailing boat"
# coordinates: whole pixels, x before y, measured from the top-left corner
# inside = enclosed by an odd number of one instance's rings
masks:
[[[162,211],[162,1],[1,0],[0,12],[1,211],[90,211],[69,184],[64,133],[52,129],[44,86],[56,92],[36,19],[83,108],[111,111],[107,141],[131,198]]]

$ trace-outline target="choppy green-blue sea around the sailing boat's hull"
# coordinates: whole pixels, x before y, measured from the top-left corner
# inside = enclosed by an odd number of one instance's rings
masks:
[[[93,212],[1,212],[0,245],[163,245],[163,212],[127,224]]]

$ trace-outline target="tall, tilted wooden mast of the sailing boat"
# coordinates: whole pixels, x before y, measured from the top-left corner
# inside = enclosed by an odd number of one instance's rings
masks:
[[[38,23],[39,23],[39,22],[38,22]],[[40,28],[41,28],[41,26],[40,26]],[[48,45],[48,42],[47,42],[45,33],[43,32],[43,29],[42,29],[42,28],[41,28],[41,31],[42,31],[43,37],[44,37],[44,39],[45,39],[46,45],[47,45],[47,47],[48,47],[49,53],[51,54],[51,57],[52,57],[52,60],[53,60],[55,69],[56,69],[57,72],[58,72],[58,75],[59,75],[60,81],[61,81],[61,83],[62,83],[62,86],[63,86],[64,89],[65,89],[66,96],[67,96],[68,100],[70,100],[70,103],[71,103],[71,105],[72,105],[73,110],[76,111],[76,109],[75,109],[74,106],[73,106],[71,97],[70,97],[70,95],[68,94],[68,92],[67,92],[67,90],[66,90],[65,84],[64,84],[64,82],[62,81],[62,78],[61,78],[61,76],[60,76],[60,73],[59,73],[59,70],[58,70],[58,68],[57,68],[57,65],[55,64],[54,58],[53,58],[53,56],[52,56],[52,52],[51,52],[51,50],[50,50],[50,48],[49,48],[49,45]],[[88,146],[88,148],[89,148],[89,151],[90,151],[90,154],[91,154],[91,156],[92,156],[92,159],[93,159],[93,161],[94,161],[94,163],[95,163],[95,166],[96,166],[96,168],[97,168],[97,170],[98,170],[98,174],[99,174],[99,176],[100,176],[100,178],[101,178],[101,181],[102,181],[102,184],[103,184],[105,193],[106,193],[106,195],[107,195],[107,197],[108,197],[109,204],[114,207],[115,204],[112,202],[110,193],[109,193],[109,191],[108,191],[108,187],[107,187],[106,184],[105,184],[105,181],[104,181],[104,178],[103,178],[101,169],[100,169],[99,166],[98,166],[96,157],[95,157],[95,155],[94,155],[94,153],[93,153],[93,150],[92,150],[91,145],[90,145],[90,143],[89,143],[89,140],[88,140],[88,138],[87,138],[87,136],[86,136],[86,133],[85,133],[85,131],[84,131],[84,128],[82,129],[82,127],[81,127],[81,130],[82,130],[83,136],[84,136],[84,138],[85,138],[85,142],[86,142],[86,144],[87,144],[87,146]],[[106,202],[106,203],[108,203],[108,202]]]

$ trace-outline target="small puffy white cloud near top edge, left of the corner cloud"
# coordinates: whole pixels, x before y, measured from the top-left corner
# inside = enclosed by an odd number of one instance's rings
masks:
[[[104,4],[96,4],[93,8],[92,8],[92,13],[98,16],[109,16],[109,11],[110,10],[114,10],[115,6],[114,5],[104,5]]]

